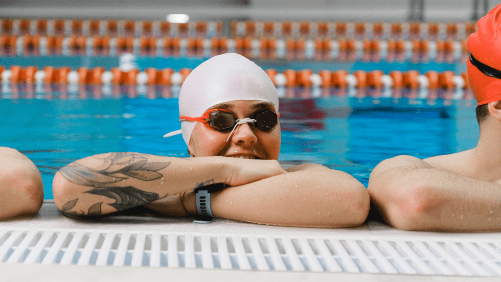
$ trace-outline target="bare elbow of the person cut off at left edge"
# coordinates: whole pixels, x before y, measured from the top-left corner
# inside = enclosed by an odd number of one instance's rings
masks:
[[[15,149],[0,147],[0,220],[36,214],[43,201],[35,164]]]

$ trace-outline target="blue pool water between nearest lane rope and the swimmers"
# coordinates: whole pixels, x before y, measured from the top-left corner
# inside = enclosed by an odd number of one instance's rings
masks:
[[[7,98],[6,98],[7,97]],[[38,99],[37,99],[38,97]],[[0,98],[0,146],[26,154],[42,173],[45,198],[64,165],[108,152],[185,157],[176,98]],[[471,100],[281,99],[280,161],[319,163],[367,186],[371,170],[397,155],[427,158],[475,147]]]

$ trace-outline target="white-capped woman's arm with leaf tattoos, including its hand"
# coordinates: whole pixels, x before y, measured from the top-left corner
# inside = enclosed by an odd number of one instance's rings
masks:
[[[249,161],[224,157],[183,159],[129,152],[96,155],[71,163],[56,173],[54,201],[68,216],[96,216],[144,205],[204,183],[234,186],[286,173],[277,161],[259,160],[258,166],[250,165]]]

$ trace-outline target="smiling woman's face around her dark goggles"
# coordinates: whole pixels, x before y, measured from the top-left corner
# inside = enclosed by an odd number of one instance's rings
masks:
[[[268,108],[274,108],[273,104],[257,100],[238,100],[217,104],[209,109],[226,109],[237,119],[243,119]],[[239,124],[226,142],[230,131],[217,131],[197,122],[188,144],[190,154],[194,157],[278,160],[280,123],[268,131],[256,128],[252,123]]]

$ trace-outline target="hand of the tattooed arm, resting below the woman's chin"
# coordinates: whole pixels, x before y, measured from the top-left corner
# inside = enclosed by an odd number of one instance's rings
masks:
[[[275,160],[246,160],[226,158],[226,181],[229,186],[239,186],[287,173]]]

